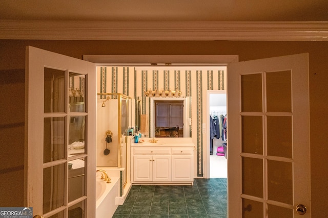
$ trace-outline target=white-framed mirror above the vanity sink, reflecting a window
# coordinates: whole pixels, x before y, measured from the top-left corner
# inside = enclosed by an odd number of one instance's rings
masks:
[[[145,97],[149,137],[191,137],[191,97]],[[148,105],[148,107],[147,107]]]

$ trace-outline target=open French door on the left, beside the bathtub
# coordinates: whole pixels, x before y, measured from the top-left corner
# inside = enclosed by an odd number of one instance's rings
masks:
[[[95,217],[95,64],[26,49],[26,205],[43,217]]]

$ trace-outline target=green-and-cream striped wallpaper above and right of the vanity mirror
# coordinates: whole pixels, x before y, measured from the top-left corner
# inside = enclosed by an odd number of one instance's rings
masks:
[[[226,89],[226,72],[222,67],[124,67],[98,66],[97,92],[122,93],[141,100],[142,114],[149,111],[147,90],[180,90],[181,96],[191,96],[191,135],[197,146],[197,176],[203,176],[202,147],[206,143],[202,124],[206,117],[206,91]],[[100,96],[105,98],[105,96]],[[151,120],[150,120],[151,123]],[[191,131],[192,131],[191,130]]]

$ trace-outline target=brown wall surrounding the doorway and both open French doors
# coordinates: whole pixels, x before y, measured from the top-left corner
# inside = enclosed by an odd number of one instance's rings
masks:
[[[0,40],[0,206],[24,206],[25,46],[83,55],[239,55],[239,61],[309,53],[312,217],[328,211],[328,42]],[[21,158],[20,158],[21,157]],[[10,169],[14,173],[7,173]],[[8,197],[12,196],[12,197]]]

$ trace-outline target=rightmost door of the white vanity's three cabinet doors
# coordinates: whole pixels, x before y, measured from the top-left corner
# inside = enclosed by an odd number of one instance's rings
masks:
[[[172,156],[173,182],[193,182],[193,159],[192,155]]]

